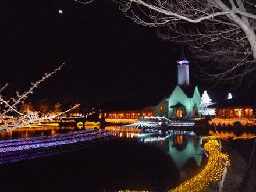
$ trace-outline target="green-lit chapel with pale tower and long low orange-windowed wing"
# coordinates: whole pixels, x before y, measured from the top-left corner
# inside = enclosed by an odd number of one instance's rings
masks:
[[[189,61],[177,62],[177,85],[172,93],[164,98],[137,99],[137,101],[108,102],[103,105],[104,118],[138,119],[140,116],[165,116],[173,119],[192,119],[200,116],[198,106],[200,93],[197,86],[191,86],[189,81]],[[113,122],[113,120],[109,120]],[[122,120],[120,120],[121,122]]]

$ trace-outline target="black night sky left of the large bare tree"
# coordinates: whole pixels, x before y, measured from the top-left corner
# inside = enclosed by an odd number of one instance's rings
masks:
[[[1,1],[0,18],[0,84],[10,83],[6,96],[26,90],[64,61],[30,101],[98,104],[124,95],[166,95],[176,86],[181,46],[133,23],[112,1]],[[205,87],[196,72],[192,60],[190,81]]]

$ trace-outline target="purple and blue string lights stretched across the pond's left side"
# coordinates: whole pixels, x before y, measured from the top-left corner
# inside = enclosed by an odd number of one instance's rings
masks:
[[[52,155],[51,152],[47,152],[48,150],[45,151],[45,148],[55,150],[55,147],[58,146],[63,147],[70,144],[94,141],[100,138],[105,140],[105,138],[111,136],[112,132],[93,129],[74,131],[55,136],[0,140],[0,165]],[[56,154],[56,151],[54,154]]]

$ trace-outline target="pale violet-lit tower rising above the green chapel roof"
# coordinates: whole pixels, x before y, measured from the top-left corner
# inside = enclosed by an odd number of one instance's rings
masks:
[[[178,84],[180,86],[189,86],[189,61],[186,59],[177,61],[178,66]]]

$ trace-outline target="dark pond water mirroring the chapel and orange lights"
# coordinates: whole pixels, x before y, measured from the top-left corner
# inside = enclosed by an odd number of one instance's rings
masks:
[[[0,133],[0,138],[48,136],[77,130],[81,129],[19,129]],[[2,165],[0,190],[166,191],[201,170],[207,160],[201,147],[202,138],[214,132],[124,129],[114,134],[116,140],[88,148]],[[232,131],[219,134],[223,137],[236,136]],[[244,134],[240,133],[239,136]]]

